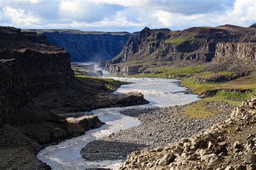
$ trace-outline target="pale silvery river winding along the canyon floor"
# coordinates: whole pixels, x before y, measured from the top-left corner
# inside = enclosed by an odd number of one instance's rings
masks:
[[[37,154],[37,158],[53,169],[86,169],[86,168],[113,168],[116,169],[123,160],[99,160],[86,161],[80,155],[80,150],[90,141],[108,136],[119,130],[129,129],[132,126],[140,125],[137,118],[120,114],[126,109],[144,109],[154,107],[167,107],[172,105],[183,105],[198,100],[197,95],[184,94],[184,87],[178,85],[179,80],[160,78],[119,78],[116,80],[133,82],[118,88],[114,93],[127,93],[129,91],[139,91],[144,94],[144,98],[150,101],[149,104],[123,107],[104,108],[92,110],[91,113],[97,115],[100,121],[106,124],[100,128],[85,132],[82,136],[71,138],[60,142],[57,145],[45,147]],[[75,113],[74,113],[75,114]],[[88,112],[79,113],[88,114]],[[63,114],[72,116],[72,113]]]

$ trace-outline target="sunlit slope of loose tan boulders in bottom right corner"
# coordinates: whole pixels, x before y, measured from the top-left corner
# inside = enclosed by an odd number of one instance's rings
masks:
[[[255,118],[256,94],[204,132],[132,152],[120,169],[255,169]]]

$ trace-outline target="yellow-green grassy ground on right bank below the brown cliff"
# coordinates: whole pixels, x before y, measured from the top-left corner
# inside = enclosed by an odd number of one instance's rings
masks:
[[[181,67],[181,68],[157,68],[153,70],[153,73],[145,74],[140,73],[133,76],[138,77],[162,77],[162,78],[176,78],[181,80],[181,86],[190,88],[196,94],[201,94],[209,89],[251,89],[252,91],[256,89],[256,76],[240,77],[237,80],[233,80],[226,83],[198,83],[196,77],[181,77],[180,75],[194,74],[196,76],[212,76],[212,75],[228,75],[231,72],[200,72],[204,69],[204,66],[194,66],[194,67]],[[170,76],[171,75],[171,76]],[[218,90],[217,94],[212,97],[202,98],[197,103],[194,103],[187,107],[183,114],[203,118],[207,115],[214,116],[219,112],[218,108],[207,110],[204,105],[206,101],[224,101],[231,105],[239,105],[242,100],[247,100],[252,96],[253,92],[247,91],[246,93],[239,92],[225,92],[223,90]]]

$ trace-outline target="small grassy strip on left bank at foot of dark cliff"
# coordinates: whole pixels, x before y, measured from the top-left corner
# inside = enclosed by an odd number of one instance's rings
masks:
[[[102,77],[91,77],[91,76],[85,76],[85,75],[76,75],[76,78],[84,83],[104,83],[105,87],[111,91],[114,89],[117,89],[123,84],[127,84],[127,82],[114,80],[110,78],[102,78]]]

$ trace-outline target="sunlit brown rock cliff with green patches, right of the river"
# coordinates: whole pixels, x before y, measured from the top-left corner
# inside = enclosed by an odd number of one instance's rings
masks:
[[[122,52],[107,61],[106,69],[127,76],[143,73],[145,65],[152,63],[192,61],[213,65],[234,62],[223,69],[235,70],[239,69],[235,66],[239,60],[245,63],[244,70],[250,72],[255,69],[255,33],[254,27],[234,25],[191,27],[183,31],[145,27],[129,38]]]

